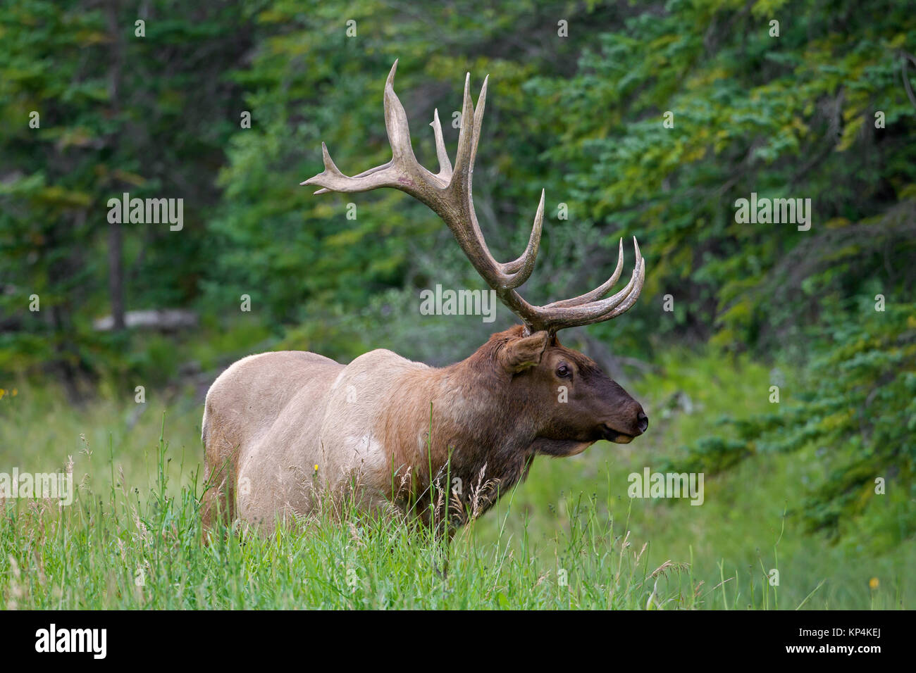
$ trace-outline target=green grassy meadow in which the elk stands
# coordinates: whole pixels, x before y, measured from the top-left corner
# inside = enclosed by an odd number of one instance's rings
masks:
[[[810,466],[755,456],[705,481],[702,506],[630,499],[627,475],[769,404],[758,365],[671,356],[628,385],[653,426],[626,446],[535,461],[529,480],[446,550],[424,531],[351,512],[202,545],[201,409],[147,392],[74,408],[26,385],[0,399],[0,472],[60,470],[73,505],[13,499],[0,520],[6,608],[892,608],[913,602],[916,551],[830,545],[787,515]],[[645,391],[652,391],[646,395]],[[684,400],[690,403],[685,404]],[[675,400],[673,403],[671,400]],[[156,409],[167,408],[166,420]],[[688,408],[689,407],[689,408]],[[143,413],[137,415],[137,411]],[[145,409],[145,410],[144,410]],[[170,438],[170,441],[169,439]],[[771,583],[773,570],[779,584]]]

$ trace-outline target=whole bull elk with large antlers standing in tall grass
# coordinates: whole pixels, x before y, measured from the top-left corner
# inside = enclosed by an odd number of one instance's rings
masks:
[[[649,425],[620,385],[557,340],[557,331],[611,320],[633,306],[646,272],[636,239],[632,276],[612,297],[603,299],[623,269],[623,241],[616,269],[601,286],[573,299],[529,304],[518,287],[538,255],[543,190],[528,247],[511,262],[490,254],[474,214],[471,180],[487,81],[474,108],[470,73],[465,78],[454,167],[438,111],[433,114],[439,157],[433,174],[414,157],[393,87],[397,67],[395,61],[384,98],[391,160],[351,178],[322,143],[324,170],[302,184],[321,187],[316,194],[392,187],[422,201],[521,324],[441,369],[386,350],[345,365],[300,351],[239,360],[206,398],[202,440],[212,487],[204,495],[205,530],[220,512],[270,532],[279,520],[309,515],[322,494],[349,492],[360,510],[394,511],[453,531],[523,480],[534,456],[572,456],[596,440],[626,443]]]

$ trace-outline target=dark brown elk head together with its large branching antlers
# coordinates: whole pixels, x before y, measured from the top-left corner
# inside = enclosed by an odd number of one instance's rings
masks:
[[[642,434],[649,426],[649,418],[638,402],[583,353],[562,346],[556,336],[557,331],[565,328],[616,318],[636,303],[646,274],[636,239],[633,239],[636,265],[632,276],[626,287],[613,296],[605,298],[623,270],[622,240],[616,269],[602,285],[572,299],[543,306],[529,304],[517,288],[530,277],[538,255],[544,219],[543,190],[528,247],[511,262],[497,262],[490,254],[474,212],[471,182],[488,78],[484,80],[476,109],[469,92],[470,73],[464,79],[462,126],[454,167],[442,141],[439,112],[434,111],[431,126],[439,158],[439,172],[434,174],[420,166],[414,156],[407,114],[394,91],[397,69],[396,60],[388,74],[384,98],[391,160],[348,177],[334,165],[322,143],[324,170],[301,184],[321,187],[316,194],[391,187],[407,192],[442,218],[477,273],[522,322],[516,328],[494,334],[471,359],[480,356],[478,359],[485,359],[489,367],[497,364],[507,383],[500,389],[515,400],[509,408],[527,415],[535,451],[570,455],[584,450],[595,440],[625,443]]]

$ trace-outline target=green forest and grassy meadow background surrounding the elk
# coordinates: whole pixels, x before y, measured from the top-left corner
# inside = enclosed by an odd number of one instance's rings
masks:
[[[395,60],[427,167],[433,111],[454,156],[489,77],[474,205],[515,259],[544,190],[526,298],[598,286],[621,238],[624,282],[634,236],[646,268],[625,315],[562,333],[646,434],[539,459],[455,540],[447,595],[370,524],[203,548],[195,518],[235,360],[442,366],[518,321],[427,309],[486,286],[419,202],[300,186],[322,142],[347,175],[391,157]],[[0,602],[913,607],[914,90],[904,0],[5,2],[0,472],[78,494],[0,494]],[[704,475],[703,505],[627,497],[648,468]]]

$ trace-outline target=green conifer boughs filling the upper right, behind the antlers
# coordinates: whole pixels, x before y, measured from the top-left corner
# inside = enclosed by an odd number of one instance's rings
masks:
[[[670,2],[583,49],[575,77],[529,85],[555,103],[544,113],[560,142],[548,156],[568,168],[573,212],[637,234],[649,296],[671,292],[688,325],[730,348],[774,345],[770,325],[785,309],[760,290],[785,279],[783,255],[891,211],[916,182],[908,158],[916,107],[900,81],[900,48],[916,41],[909,9],[770,5],[748,13],[733,3]],[[781,19],[778,38],[771,17]],[[876,127],[878,111],[885,128]],[[663,125],[667,112],[672,128]],[[735,201],[751,192],[811,199],[812,230],[736,223]],[[912,241],[897,230],[881,242],[883,265],[861,259],[838,270],[844,296],[872,281],[911,289]],[[665,320],[652,328],[682,331]]]

